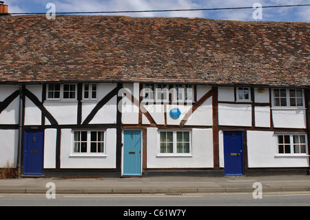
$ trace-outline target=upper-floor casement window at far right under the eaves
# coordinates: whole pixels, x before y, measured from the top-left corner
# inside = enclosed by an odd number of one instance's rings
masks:
[[[273,107],[304,107],[303,90],[273,89]]]

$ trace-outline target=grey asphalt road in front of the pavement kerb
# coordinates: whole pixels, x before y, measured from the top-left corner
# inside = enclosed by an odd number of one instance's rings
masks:
[[[0,194],[0,206],[310,206],[310,192],[216,194]]]

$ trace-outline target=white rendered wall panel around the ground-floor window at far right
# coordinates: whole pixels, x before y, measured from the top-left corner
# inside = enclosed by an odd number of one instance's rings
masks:
[[[278,139],[274,132],[247,131],[249,168],[309,167],[309,156],[277,155]]]

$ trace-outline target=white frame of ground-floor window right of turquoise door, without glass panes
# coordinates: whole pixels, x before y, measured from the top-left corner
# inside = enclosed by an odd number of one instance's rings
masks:
[[[172,153],[161,152],[161,132],[172,132],[173,151]],[[177,132],[189,132],[189,152],[177,152]],[[192,130],[158,130],[158,155],[157,157],[192,157]]]

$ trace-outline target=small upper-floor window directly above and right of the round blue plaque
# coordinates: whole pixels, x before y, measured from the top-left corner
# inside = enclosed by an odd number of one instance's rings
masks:
[[[191,85],[176,85],[174,86],[174,102],[192,103],[194,101],[194,92]]]

